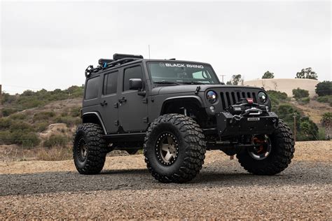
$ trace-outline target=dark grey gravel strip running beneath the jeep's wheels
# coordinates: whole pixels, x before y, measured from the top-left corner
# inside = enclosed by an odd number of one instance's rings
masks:
[[[326,169],[324,169],[324,166]],[[327,166],[327,167],[326,167]],[[255,176],[243,169],[202,169],[189,183],[159,183],[147,169],[105,170],[85,176],[71,172],[0,174],[0,196],[44,194],[54,192],[87,192],[97,190],[160,190],[169,188],[237,187],[265,185],[326,185],[331,184],[331,166],[319,163],[307,166],[294,162],[276,176]]]

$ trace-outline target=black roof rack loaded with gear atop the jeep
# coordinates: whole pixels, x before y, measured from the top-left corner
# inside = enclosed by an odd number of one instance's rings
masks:
[[[89,65],[88,68],[85,69],[85,77],[88,78],[91,73],[97,73],[100,70],[109,69],[112,66],[125,64],[127,62],[132,62],[143,58],[144,57],[141,55],[125,55],[116,53],[113,55],[113,59],[99,59],[98,64],[100,65],[96,68],[93,68],[92,65]]]

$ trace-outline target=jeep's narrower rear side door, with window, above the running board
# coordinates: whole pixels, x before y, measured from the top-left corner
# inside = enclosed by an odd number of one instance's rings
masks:
[[[108,133],[118,131],[118,76],[118,70],[104,73],[100,113]]]

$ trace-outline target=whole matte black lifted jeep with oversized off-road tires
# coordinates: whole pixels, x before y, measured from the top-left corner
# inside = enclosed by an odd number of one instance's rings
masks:
[[[73,148],[79,173],[99,173],[115,149],[143,148],[148,170],[163,183],[195,178],[206,150],[236,155],[257,175],[291,163],[293,134],[271,112],[265,90],[224,85],[210,64],[115,54],[85,76]]]

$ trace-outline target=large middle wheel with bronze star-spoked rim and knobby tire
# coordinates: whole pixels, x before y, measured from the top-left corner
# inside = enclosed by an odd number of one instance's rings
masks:
[[[155,179],[162,183],[185,183],[202,169],[205,137],[191,117],[162,115],[146,131],[144,156]]]

